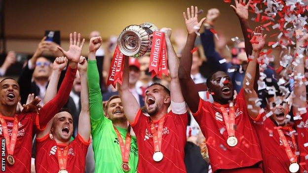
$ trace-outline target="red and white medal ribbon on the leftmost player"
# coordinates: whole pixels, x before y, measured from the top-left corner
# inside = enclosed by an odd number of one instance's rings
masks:
[[[5,143],[6,143],[6,148],[7,148],[7,153],[9,155],[13,155],[14,149],[15,149],[15,144],[17,140],[17,133],[18,133],[18,119],[17,116],[14,116],[14,123],[13,123],[13,131],[12,131],[12,136],[11,138],[8,135],[8,129],[5,120],[3,119],[3,116],[0,114],[0,123],[3,129],[3,135],[5,138]]]

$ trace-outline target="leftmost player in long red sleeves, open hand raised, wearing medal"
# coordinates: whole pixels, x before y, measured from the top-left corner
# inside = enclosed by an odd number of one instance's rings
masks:
[[[20,86],[14,79],[10,78],[3,79],[0,82],[0,123],[2,131],[0,138],[2,140],[4,138],[6,144],[6,173],[30,173],[33,133],[37,130],[43,130],[69,98],[81,53],[81,51],[73,52],[73,48],[70,47],[66,54],[69,67],[58,94],[45,104],[38,113],[22,112],[17,115],[16,106],[20,101]],[[59,49],[62,50],[60,47]],[[39,102],[40,100],[36,98],[29,107],[25,106],[25,110],[36,106]]]

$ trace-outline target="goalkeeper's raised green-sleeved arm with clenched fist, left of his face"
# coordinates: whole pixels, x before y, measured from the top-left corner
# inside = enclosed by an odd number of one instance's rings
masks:
[[[103,98],[99,85],[99,73],[96,65],[96,51],[102,45],[102,37],[92,37],[89,43],[87,80],[89,85],[89,108],[92,121],[104,118]]]

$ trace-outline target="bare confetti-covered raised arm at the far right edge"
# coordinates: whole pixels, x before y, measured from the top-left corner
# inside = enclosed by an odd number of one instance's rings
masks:
[[[296,42],[296,54],[295,62],[297,66],[294,67],[294,94],[295,98],[293,98],[293,110],[296,114],[303,114],[299,111],[299,108],[306,107],[306,86],[303,80],[305,79],[305,62],[304,62],[304,44],[308,41],[308,34],[305,34],[301,30],[296,31],[297,42]],[[303,56],[303,57],[302,57]]]

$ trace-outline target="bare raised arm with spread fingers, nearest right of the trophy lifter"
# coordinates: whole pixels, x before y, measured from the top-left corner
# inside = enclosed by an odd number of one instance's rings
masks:
[[[180,61],[179,66],[179,79],[182,89],[182,94],[184,96],[184,99],[186,103],[188,104],[189,108],[192,110],[192,112],[196,112],[198,110],[199,105],[199,94],[197,90],[195,89],[194,82],[191,78],[191,68],[192,68],[192,52],[191,50],[194,47],[194,41],[196,39],[195,29],[200,28],[202,23],[204,22],[205,18],[201,19],[198,23],[198,7],[191,7],[192,12],[190,12],[190,8],[187,8],[187,17],[185,12],[183,12],[188,36],[186,45],[184,47],[184,50],[182,52],[182,58]],[[199,30],[197,30],[198,32]]]

